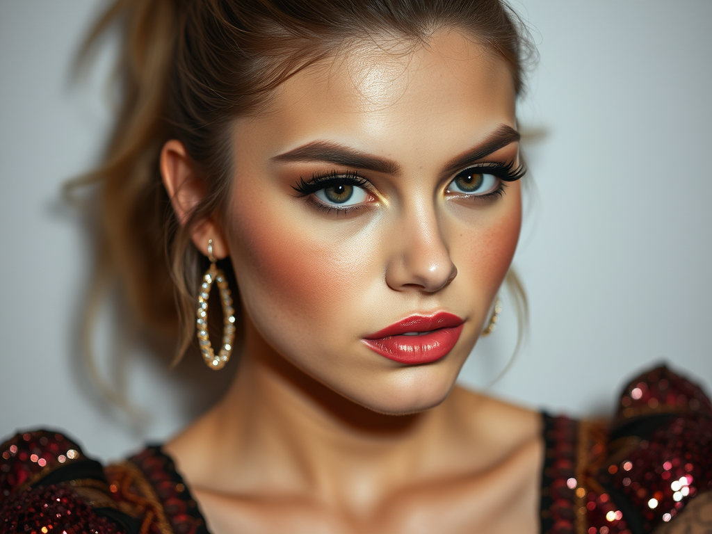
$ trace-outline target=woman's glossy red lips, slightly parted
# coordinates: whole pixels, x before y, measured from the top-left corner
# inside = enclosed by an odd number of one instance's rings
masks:
[[[363,342],[390,360],[409,365],[440,360],[460,338],[464,320],[452,313],[411,315],[368,335]]]

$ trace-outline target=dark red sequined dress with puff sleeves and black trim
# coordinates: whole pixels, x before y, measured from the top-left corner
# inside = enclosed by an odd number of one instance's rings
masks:
[[[651,533],[712,491],[712,404],[666,367],[630,382],[612,420],[542,417],[542,533]],[[208,534],[159,446],[103,466],[41,430],[0,456],[2,534]]]

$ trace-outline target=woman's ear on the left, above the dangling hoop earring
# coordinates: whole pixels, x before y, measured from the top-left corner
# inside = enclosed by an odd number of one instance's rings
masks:
[[[180,141],[172,139],[163,145],[160,167],[163,185],[171,199],[173,210],[180,224],[184,225],[205,197],[206,188],[197,177],[188,152]],[[205,256],[208,255],[209,239],[213,240],[213,256],[225,258],[230,253],[224,234],[213,217],[196,224],[192,229],[191,239]]]

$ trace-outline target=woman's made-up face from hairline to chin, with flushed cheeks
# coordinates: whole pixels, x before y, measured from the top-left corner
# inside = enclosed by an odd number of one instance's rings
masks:
[[[499,178],[518,166],[505,63],[456,32],[385,48],[308,68],[269,112],[236,122],[225,234],[245,318],[268,345],[397,414],[453,386],[521,204],[519,182]]]

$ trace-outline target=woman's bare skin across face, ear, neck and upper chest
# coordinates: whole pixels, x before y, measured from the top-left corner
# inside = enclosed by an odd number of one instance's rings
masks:
[[[194,229],[230,256],[245,320],[226,397],[164,449],[213,533],[538,531],[540,417],[454,387],[518,240],[520,184],[451,191],[449,162],[515,129],[506,65],[456,31],[415,50],[352,48],[236,120],[226,216]],[[396,50],[396,52],[398,52]],[[389,169],[283,161],[310,142]],[[516,162],[508,142],[480,162]],[[161,169],[179,219],[201,198],[178,141]],[[293,187],[357,171],[360,209],[327,212]],[[419,313],[454,313],[446,357],[402,365],[362,338]]]

